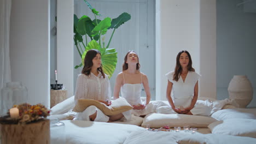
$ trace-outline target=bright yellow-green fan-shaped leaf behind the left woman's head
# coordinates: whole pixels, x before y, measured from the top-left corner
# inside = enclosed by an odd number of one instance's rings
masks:
[[[97,43],[96,40],[90,41],[88,46],[86,46],[86,50],[82,56],[82,63],[84,65],[84,58],[87,51],[91,49],[96,49],[101,52],[101,61],[104,73],[109,75],[109,78],[113,75],[115,71],[115,67],[117,65],[117,51],[115,49],[105,49],[100,48],[100,45]]]

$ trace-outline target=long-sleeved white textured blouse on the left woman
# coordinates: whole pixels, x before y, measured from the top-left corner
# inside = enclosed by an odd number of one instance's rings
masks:
[[[78,99],[110,100],[111,89],[108,76],[98,74],[79,74],[77,77],[77,87],[75,88],[75,104]]]

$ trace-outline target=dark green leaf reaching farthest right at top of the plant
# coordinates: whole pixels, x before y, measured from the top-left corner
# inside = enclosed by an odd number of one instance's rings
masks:
[[[121,26],[126,21],[129,21],[131,19],[131,15],[128,13],[123,13],[119,15],[117,18],[113,19],[111,22],[111,26],[108,28],[115,28],[117,29],[119,26]]]

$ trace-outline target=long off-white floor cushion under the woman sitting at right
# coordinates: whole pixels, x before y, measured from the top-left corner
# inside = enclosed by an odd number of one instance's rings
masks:
[[[189,125],[189,127],[207,127],[210,123],[216,121],[216,119],[207,116],[150,113],[143,119],[142,126],[149,124],[151,128],[160,128],[165,125],[170,127],[183,127],[184,125]]]

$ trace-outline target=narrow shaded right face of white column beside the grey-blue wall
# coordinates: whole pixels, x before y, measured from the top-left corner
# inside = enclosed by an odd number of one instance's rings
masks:
[[[200,97],[216,99],[216,0],[200,1]],[[201,98],[203,99],[203,98]]]

